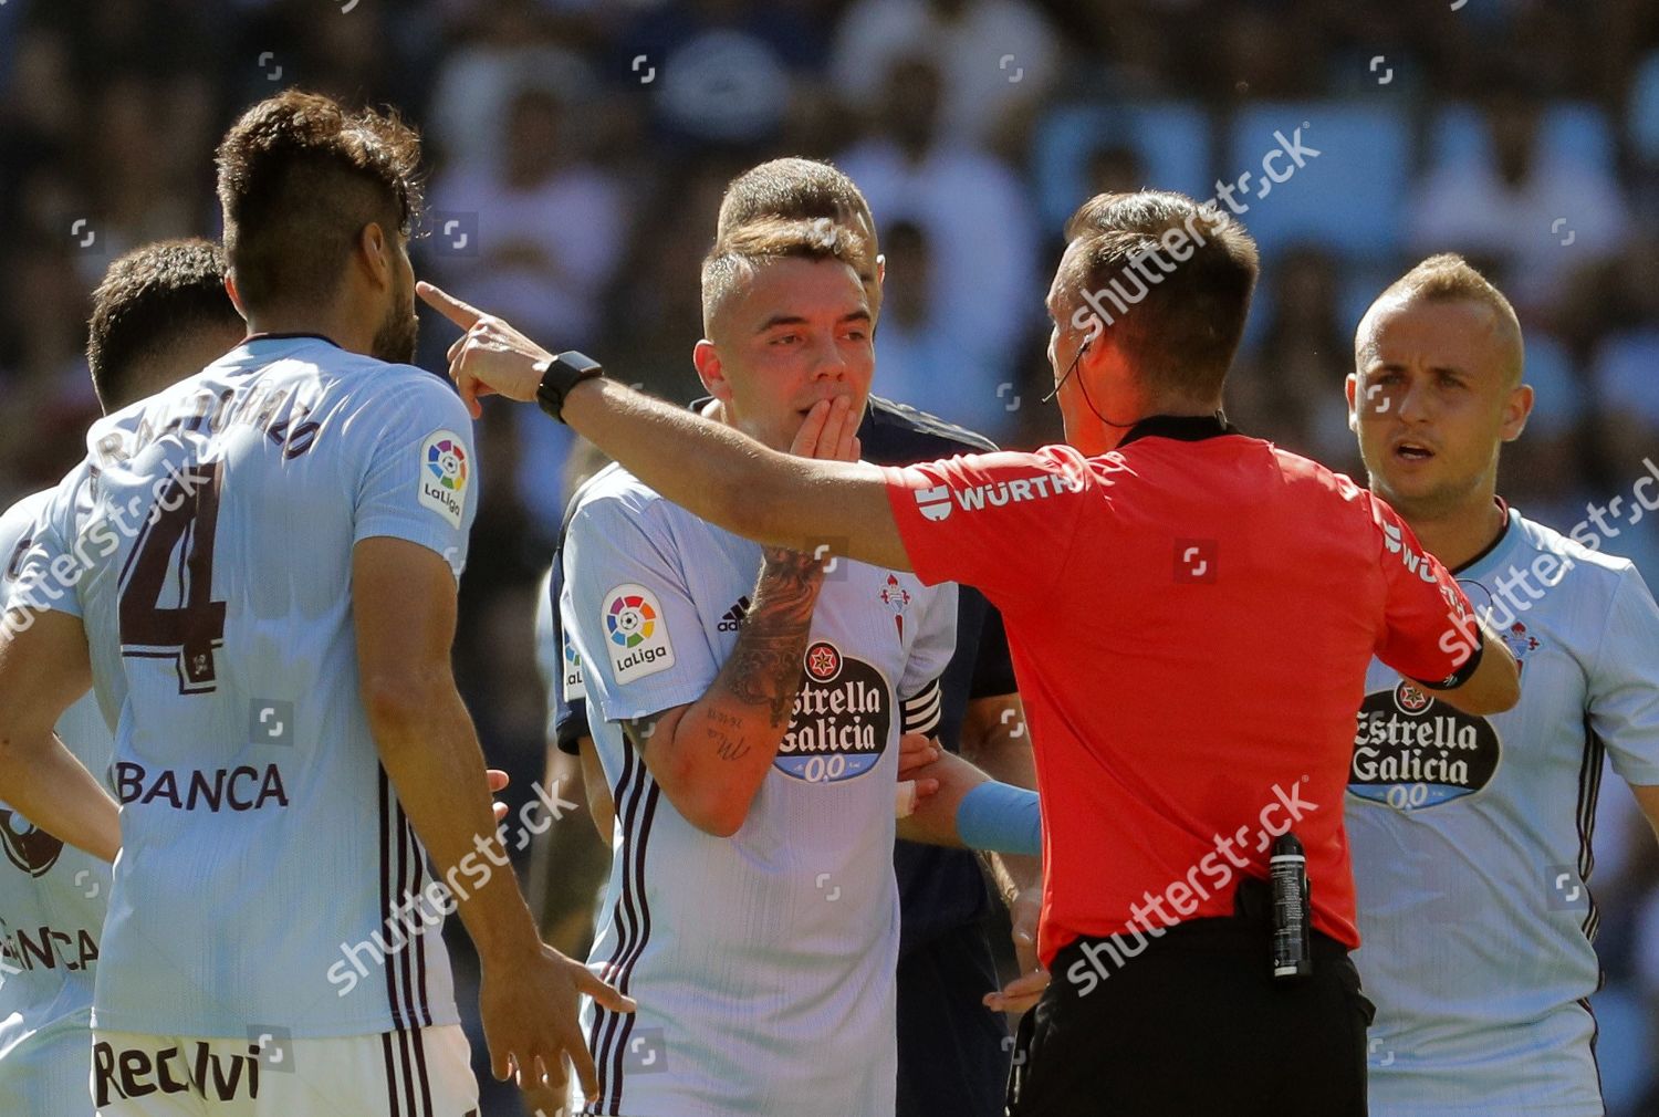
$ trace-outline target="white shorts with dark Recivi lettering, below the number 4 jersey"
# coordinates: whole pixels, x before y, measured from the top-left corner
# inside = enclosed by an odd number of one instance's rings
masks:
[[[478,1117],[458,1024],[338,1039],[93,1031],[98,1117]]]

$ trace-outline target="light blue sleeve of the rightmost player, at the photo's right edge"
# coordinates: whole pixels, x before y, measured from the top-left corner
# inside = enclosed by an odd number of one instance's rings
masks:
[[[1613,594],[1589,676],[1589,727],[1627,783],[1659,783],[1659,606],[1636,568]]]

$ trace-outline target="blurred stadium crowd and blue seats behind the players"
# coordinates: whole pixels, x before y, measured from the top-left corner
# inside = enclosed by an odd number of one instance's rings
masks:
[[[833,158],[869,196],[876,390],[1012,446],[1060,433],[1037,398],[1070,209],[1143,184],[1209,198],[1249,171],[1236,206],[1264,277],[1236,423],[1357,471],[1340,385],[1359,314],[1458,249],[1516,300],[1538,388],[1501,491],[1571,529],[1659,473],[1651,0],[0,0],[0,496],[81,456],[103,267],[214,236],[212,146],[289,85],[397,105],[426,134],[420,276],[670,397],[695,392],[720,191],[758,159]],[[1262,194],[1286,143],[1301,158]],[[425,327],[440,368],[450,332]],[[491,412],[479,450],[458,662],[519,802],[542,750],[534,583],[587,456],[524,408]],[[1659,516],[1632,518],[1598,534],[1659,586]],[[1246,654],[1272,637],[1228,636]],[[1606,787],[1596,1006],[1609,1112],[1634,1117],[1659,1114],[1659,855]],[[479,1069],[484,1112],[516,1114]]]

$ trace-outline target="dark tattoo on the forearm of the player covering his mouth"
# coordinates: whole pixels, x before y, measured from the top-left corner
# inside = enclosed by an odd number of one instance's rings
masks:
[[[761,707],[773,727],[786,725],[801,685],[801,654],[823,586],[823,564],[810,554],[766,549],[737,646],[720,669],[720,685],[743,705]]]

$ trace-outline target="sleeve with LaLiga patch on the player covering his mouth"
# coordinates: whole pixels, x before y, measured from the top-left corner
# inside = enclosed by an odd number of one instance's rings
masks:
[[[564,626],[587,700],[607,722],[695,702],[720,672],[665,510],[625,491],[599,495],[564,538]]]

